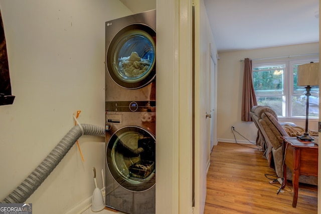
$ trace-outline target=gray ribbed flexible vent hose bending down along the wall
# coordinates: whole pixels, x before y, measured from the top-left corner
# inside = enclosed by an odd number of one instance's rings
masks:
[[[105,127],[81,124],[73,127],[38,167],[0,203],[23,203],[56,168],[79,137],[85,135],[105,136]]]

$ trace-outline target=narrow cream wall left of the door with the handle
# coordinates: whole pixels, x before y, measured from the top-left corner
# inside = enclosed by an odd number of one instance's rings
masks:
[[[210,112],[207,78],[210,71],[211,52],[217,50],[210,29],[204,1],[196,1],[195,7],[195,213],[203,213],[206,200],[206,175],[210,164],[210,134],[207,126]],[[211,44],[211,45],[210,45]],[[211,50],[210,50],[211,47]],[[215,59],[216,60],[216,59]]]

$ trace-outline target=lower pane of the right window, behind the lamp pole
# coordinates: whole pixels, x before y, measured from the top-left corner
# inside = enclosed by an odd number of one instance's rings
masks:
[[[292,116],[305,117],[306,96],[292,96]],[[319,96],[309,96],[309,117],[318,117],[319,115]]]

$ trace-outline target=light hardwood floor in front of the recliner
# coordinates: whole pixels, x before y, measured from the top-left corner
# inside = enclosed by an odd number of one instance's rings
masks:
[[[269,183],[265,174],[276,177],[262,155],[254,145],[219,142],[214,146],[204,214],[317,213],[317,186],[300,183],[297,205],[293,208],[291,182],[285,187],[288,191],[277,194],[280,184]]]

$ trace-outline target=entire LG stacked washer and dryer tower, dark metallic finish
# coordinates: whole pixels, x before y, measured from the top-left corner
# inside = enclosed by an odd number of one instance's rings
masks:
[[[155,213],[156,12],[106,22],[106,206]]]

